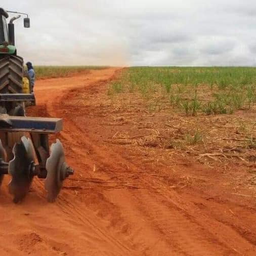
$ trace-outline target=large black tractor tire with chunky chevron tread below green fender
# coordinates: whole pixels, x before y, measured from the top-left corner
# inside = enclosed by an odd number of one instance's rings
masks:
[[[22,93],[23,59],[0,55],[0,94]]]

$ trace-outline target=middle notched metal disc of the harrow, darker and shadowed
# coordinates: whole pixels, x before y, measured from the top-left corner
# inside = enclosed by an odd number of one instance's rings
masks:
[[[9,162],[8,173],[12,176],[9,191],[14,195],[15,203],[21,201],[30,188],[33,180],[31,164],[34,161],[34,149],[30,139],[22,137],[13,148],[14,158]]]

